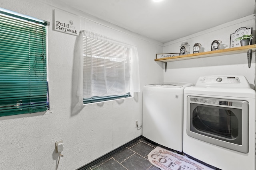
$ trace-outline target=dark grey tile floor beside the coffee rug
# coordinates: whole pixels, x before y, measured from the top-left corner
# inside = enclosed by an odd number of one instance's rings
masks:
[[[160,170],[148,161],[148,154],[156,147],[141,138],[87,170]]]

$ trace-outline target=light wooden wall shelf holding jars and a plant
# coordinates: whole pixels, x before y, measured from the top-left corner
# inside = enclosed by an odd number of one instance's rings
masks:
[[[246,45],[242,47],[234,47],[230,49],[221,49],[216,51],[207,51],[202,53],[196,53],[196,54],[188,54],[188,55],[179,55],[175,57],[166,57],[162,59],[155,59],[155,61],[160,62],[170,62],[170,61],[178,61],[178,60],[184,60],[184,59],[196,59],[200,57],[214,57],[214,56],[221,56],[221,55],[232,55],[232,54],[239,54],[239,53],[247,53],[249,49],[252,49],[252,51],[256,50],[256,45]]]

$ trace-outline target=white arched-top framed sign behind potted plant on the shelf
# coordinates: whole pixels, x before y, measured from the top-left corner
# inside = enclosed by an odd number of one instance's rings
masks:
[[[230,48],[241,47],[241,43],[236,38],[241,37],[242,35],[252,34],[252,28],[240,27],[234,33],[230,34]],[[250,41],[252,43],[252,41]]]

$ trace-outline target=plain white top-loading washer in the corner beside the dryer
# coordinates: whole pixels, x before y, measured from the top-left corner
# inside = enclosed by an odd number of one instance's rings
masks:
[[[164,147],[182,152],[183,90],[185,82],[144,86],[142,136]]]

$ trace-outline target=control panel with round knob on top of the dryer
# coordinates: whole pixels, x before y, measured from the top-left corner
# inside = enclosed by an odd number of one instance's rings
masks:
[[[202,83],[240,83],[240,79],[236,76],[214,76],[214,77],[203,77]]]

